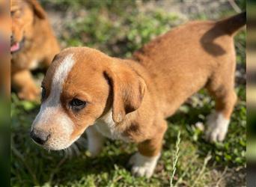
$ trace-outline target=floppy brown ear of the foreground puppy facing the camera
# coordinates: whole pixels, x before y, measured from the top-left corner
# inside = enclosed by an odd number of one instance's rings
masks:
[[[115,123],[121,123],[126,114],[140,107],[146,84],[130,67],[117,63],[117,68],[109,68],[105,74],[112,87],[112,117]]]

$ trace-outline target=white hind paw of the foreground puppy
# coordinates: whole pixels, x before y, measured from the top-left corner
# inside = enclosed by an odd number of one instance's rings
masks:
[[[207,141],[223,141],[228,132],[229,120],[225,119],[222,113],[214,112],[207,117]]]

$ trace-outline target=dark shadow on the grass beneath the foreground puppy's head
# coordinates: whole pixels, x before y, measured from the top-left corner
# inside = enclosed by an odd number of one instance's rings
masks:
[[[33,144],[26,142],[25,150],[22,150],[23,147],[12,148],[12,177],[25,186],[69,186],[88,176],[94,176],[95,182],[101,183],[99,176],[107,174],[107,178],[112,179],[116,166],[129,171],[129,153],[102,153],[91,158],[85,155],[84,150],[80,150],[79,155],[67,158],[63,152],[49,153]]]

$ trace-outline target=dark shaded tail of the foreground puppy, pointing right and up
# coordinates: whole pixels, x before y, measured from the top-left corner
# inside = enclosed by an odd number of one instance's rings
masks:
[[[222,28],[225,33],[234,35],[240,28],[246,25],[246,12],[222,19],[216,22],[216,25]]]

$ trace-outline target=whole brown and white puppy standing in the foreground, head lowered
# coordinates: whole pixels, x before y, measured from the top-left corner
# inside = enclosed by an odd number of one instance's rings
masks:
[[[138,143],[132,173],[150,177],[159,159],[166,117],[200,88],[216,99],[207,139],[223,141],[237,96],[234,34],[246,13],[219,22],[189,22],[156,37],[134,60],[74,47],[55,56],[42,83],[31,138],[49,150],[69,147],[83,132],[96,156],[105,137]]]

